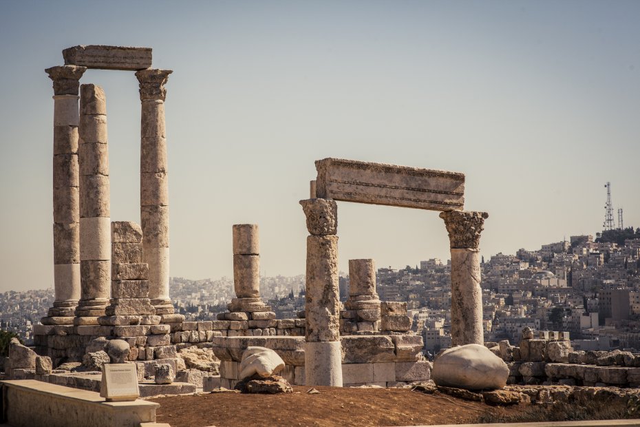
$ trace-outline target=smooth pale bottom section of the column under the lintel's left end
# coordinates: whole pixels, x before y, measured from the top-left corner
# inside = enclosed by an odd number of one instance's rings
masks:
[[[306,342],[304,376],[306,386],[342,387],[341,342]]]

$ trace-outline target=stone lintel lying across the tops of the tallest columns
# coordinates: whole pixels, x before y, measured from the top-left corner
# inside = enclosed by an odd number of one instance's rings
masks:
[[[144,70],[151,67],[151,48],[78,45],[62,51],[65,65],[100,70]]]

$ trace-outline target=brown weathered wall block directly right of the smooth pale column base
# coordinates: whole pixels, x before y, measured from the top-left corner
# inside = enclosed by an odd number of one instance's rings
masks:
[[[341,337],[343,363],[393,362],[395,346],[388,335]]]

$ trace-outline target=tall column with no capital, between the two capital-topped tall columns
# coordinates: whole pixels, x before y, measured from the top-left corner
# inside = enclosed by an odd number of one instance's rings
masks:
[[[80,271],[76,326],[98,324],[111,287],[111,218],[107,99],[102,87],[82,85],[80,94]]]

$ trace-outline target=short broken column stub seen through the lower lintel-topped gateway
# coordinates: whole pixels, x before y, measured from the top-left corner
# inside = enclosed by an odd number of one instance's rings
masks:
[[[380,299],[376,293],[374,260],[349,260],[349,297],[345,309],[345,332],[378,331]]]

